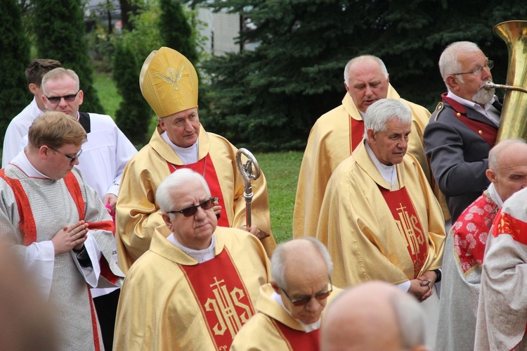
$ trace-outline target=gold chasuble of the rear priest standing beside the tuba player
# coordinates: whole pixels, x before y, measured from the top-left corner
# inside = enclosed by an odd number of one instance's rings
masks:
[[[443,214],[450,219],[445,198],[437,188],[424,153],[423,132],[429,122],[429,111],[410,101],[405,101],[389,85],[388,98],[403,101],[412,112],[412,126],[408,153],[415,156],[429,184],[432,184],[439,199]],[[315,236],[318,216],[327,181],[337,166],[345,160],[362,141],[364,134],[363,117],[353,104],[349,94],[342,99],[342,105],[320,116],[309,134],[306,151],[299,172],[297,196],[294,202],[293,236]]]

